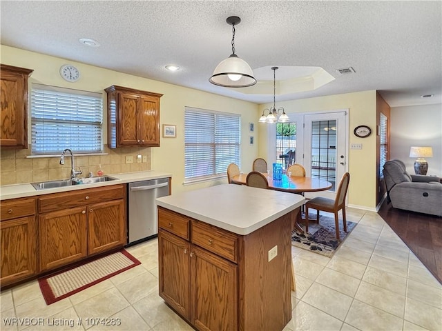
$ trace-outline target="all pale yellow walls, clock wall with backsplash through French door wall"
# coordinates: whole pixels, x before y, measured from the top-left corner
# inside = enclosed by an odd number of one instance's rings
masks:
[[[88,66],[84,63],[10,48],[8,46],[0,46],[0,50],[1,63],[34,70],[30,77],[30,83],[42,83],[64,88],[101,92],[103,93],[104,99],[106,98],[104,88],[111,85],[126,86],[164,94],[161,98],[161,124],[175,124],[177,126],[177,138],[162,138],[160,148],[106,149],[106,152],[110,152],[110,156],[77,157],[77,163],[84,167],[84,172],[95,172],[99,163],[102,163],[104,171],[108,174],[148,169],[171,172],[173,174],[173,192],[194,190],[209,185],[217,185],[218,183],[227,183],[227,179],[224,178],[218,181],[183,185],[184,107],[186,106],[241,114],[241,170],[243,172],[249,172],[251,170],[253,159],[258,157],[258,155],[264,157],[267,155],[267,130],[265,129],[265,125],[258,123],[258,119],[260,114],[262,114],[262,109],[270,105],[258,106],[255,103],[221,97],[216,94],[174,86],[160,81],[144,79],[121,72]],[[61,79],[59,68],[66,63],[75,64],[81,71],[81,79],[79,79],[77,83],[68,83]],[[177,72],[177,74],[179,74],[179,72]],[[287,112],[349,109],[349,143],[363,143],[363,150],[349,150],[349,172],[352,174],[349,187],[349,204],[356,207],[374,209],[376,207],[376,137],[372,134],[368,138],[361,139],[355,137],[352,132],[356,126],[362,124],[370,128],[376,128],[376,91],[278,102],[278,106],[284,107]],[[255,123],[255,132],[249,132],[249,122]],[[374,130],[374,132],[376,131]],[[104,134],[104,137],[106,137],[106,132],[104,132]],[[249,145],[250,135],[253,135],[256,139],[255,145],[253,146]],[[30,134],[28,134],[28,137],[30,137]],[[61,165],[58,165],[57,158],[45,158],[46,161],[41,161],[39,159],[26,159],[26,154],[28,154],[26,150],[17,150],[14,152],[5,149],[1,150],[2,185],[7,183],[57,179],[60,174],[63,174],[64,177],[67,177],[69,174],[68,168],[70,163],[68,162],[66,162],[65,169],[61,168],[60,172],[59,167],[61,167]],[[148,155],[148,163],[140,163],[139,165],[137,165],[137,163],[133,163],[132,165],[124,163],[126,155],[133,155],[133,157],[135,157],[137,154]],[[42,172],[42,170],[44,171]],[[30,173],[32,173],[32,176]]]

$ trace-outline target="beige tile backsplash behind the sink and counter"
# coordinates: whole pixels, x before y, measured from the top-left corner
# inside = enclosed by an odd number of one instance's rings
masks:
[[[27,158],[28,149],[1,148],[0,154],[0,185],[31,183],[35,181],[50,181],[70,177],[70,154],[66,154],[64,165],[60,165],[58,157]],[[104,174],[118,174],[151,170],[151,148],[125,147],[107,148],[106,155],[88,155],[75,157],[75,168],[83,172],[79,177],[88,177],[89,172],[97,176],[99,165]],[[146,157],[146,162],[137,163],[137,155]],[[133,163],[126,163],[126,157],[133,157]],[[143,160],[142,160],[143,161]]]

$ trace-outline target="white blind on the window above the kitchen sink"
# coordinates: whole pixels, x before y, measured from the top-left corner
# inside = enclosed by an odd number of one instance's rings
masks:
[[[102,152],[102,94],[32,84],[32,154]]]

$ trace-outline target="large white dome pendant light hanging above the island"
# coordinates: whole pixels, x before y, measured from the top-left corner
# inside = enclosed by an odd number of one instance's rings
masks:
[[[218,86],[226,88],[245,88],[256,84],[253,71],[246,61],[240,59],[235,54],[235,26],[241,21],[239,17],[231,16],[227,18],[227,23],[232,26],[232,54],[223,60],[213,71],[209,81]]]

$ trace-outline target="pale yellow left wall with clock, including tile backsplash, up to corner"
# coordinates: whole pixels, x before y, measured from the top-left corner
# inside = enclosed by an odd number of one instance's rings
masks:
[[[49,57],[44,54],[0,46],[1,63],[11,66],[33,69],[30,76],[30,83],[41,83],[50,86],[60,86],[64,88],[74,88],[77,90],[87,90],[91,92],[103,93],[106,104],[106,93],[104,88],[111,85],[126,86],[139,90],[157,92],[164,94],[161,98],[160,122],[162,124],[174,124],[177,126],[177,138],[161,138],[159,148],[117,148],[105,152],[110,154],[97,157],[76,157],[77,165],[80,165],[84,173],[88,171],[96,172],[99,163],[102,164],[104,172],[107,174],[119,172],[133,172],[138,170],[159,170],[171,172],[172,191],[193,190],[217,183],[227,183],[227,179],[209,181],[194,185],[182,185],[184,181],[184,107],[204,108],[218,110],[222,112],[232,112],[241,114],[242,121],[242,159],[244,165],[251,165],[256,154],[258,154],[258,144],[249,146],[249,122],[255,121],[258,113],[258,106],[255,103],[239,101],[216,94],[183,88],[180,86],[144,79],[130,74],[123,74],[112,70],[88,66],[84,63],[68,61],[57,57]],[[59,68],[72,63],[81,72],[81,78],[76,83],[68,83],[61,79]],[[171,73],[173,74],[173,73]],[[177,72],[176,74],[180,74]],[[105,112],[105,132],[106,137],[106,112]],[[30,128],[30,126],[28,126]],[[28,134],[30,137],[30,134]],[[104,141],[106,143],[106,141]],[[66,146],[68,148],[68,146]],[[60,151],[61,153],[61,151]],[[69,176],[70,161],[66,161],[64,168],[58,164],[59,158],[26,159],[30,154],[28,150],[7,150],[1,149],[1,185],[10,183],[28,183],[30,181],[41,181],[47,179],[60,179]],[[148,156],[147,163],[124,163],[126,155],[132,155],[135,159],[137,154]]]

